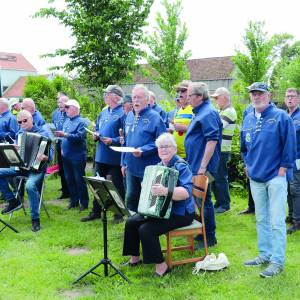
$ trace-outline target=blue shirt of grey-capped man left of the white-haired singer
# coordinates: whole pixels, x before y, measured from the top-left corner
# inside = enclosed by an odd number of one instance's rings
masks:
[[[124,126],[125,114],[122,105],[115,107],[114,109],[104,109],[96,123],[96,131],[101,137],[112,138],[112,146],[120,146],[119,129]],[[113,151],[106,146],[103,142],[97,143],[96,158],[98,163],[117,165],[121,163],[121,153]]]

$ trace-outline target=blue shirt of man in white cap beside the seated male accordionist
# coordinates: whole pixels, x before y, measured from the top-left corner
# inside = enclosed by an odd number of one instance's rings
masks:
[[[62,138],[61,150],[65,158],[71,160],[86,160],[86,132],[84,129],[85,123],[77,115],[68,118],[64,125],[63,131],[67,133],[65,138]]]

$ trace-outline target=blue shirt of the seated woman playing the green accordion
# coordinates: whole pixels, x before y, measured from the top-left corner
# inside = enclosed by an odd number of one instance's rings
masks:
[[[179,172],[177,186],[181,186],[187,190],[189,197],[186,200],[173,201],[171,214],[184,216],[186,212],[192,214],[195,212],[194,199],[192,194],[192,172],[189,165],[183,161],[178,155],[174,155],[169,164],[169,168],[174,168]]]

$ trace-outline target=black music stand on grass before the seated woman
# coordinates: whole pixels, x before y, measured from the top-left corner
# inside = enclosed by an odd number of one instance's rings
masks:
[[[95,273],[94,270],[98,268],[100,265],[104,266],[104,276],[108,276],[108,266],[115,270],[116,273],[110,275],[110,277],[115,275],[120,275],[123,279],[125,279],[128,283],[130,283],[129,279],[111,262],[108,258],[107,251],[107,210],[113,210],[121,215],[130,215],[130,212],[126,208],[121,196],[119,195],[117,189],[114,184],[101,177],[84,177],[86,182],[88,183],[89,188],[95,196],[95,199],[99,202],[102,207],[102,223],[103,223],[103,259],[101,259],[96,265],[91,267],[88,271],[86,271],[83,275],[78,277],[72,284],[79,282],[82,278],[87,276],[88,274],[94,274],[100,276],[98,273]]]

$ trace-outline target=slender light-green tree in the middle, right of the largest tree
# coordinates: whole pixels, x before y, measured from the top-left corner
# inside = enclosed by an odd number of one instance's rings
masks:
[[[166,18],[161,13],[156,16],[155,31],[146,39],[150,49],[147,61],[155,70],[150,74],[153,80],[170,95],[174,95],[175,85],[190,77],[186,60],[191,52],[183,51],[188,34],[186,25],[180,21],[181,1],[169,3],[163,0],[162,4]]]

